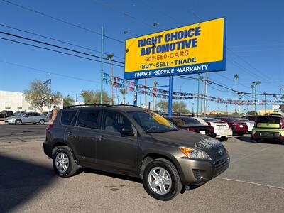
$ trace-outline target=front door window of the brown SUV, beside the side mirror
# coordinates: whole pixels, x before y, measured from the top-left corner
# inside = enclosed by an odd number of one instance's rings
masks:
[[[103,119],[103,128],[106,131],[119,132],[122,126],[131,127],[129,119],[116,111],[105,111]]]

